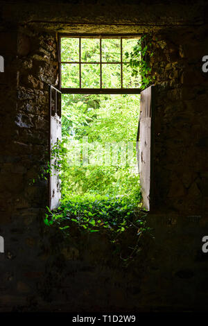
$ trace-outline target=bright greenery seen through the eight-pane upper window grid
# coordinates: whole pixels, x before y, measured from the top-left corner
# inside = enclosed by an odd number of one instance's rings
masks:
[[[139,88],[141,78],[132,76],[128,56],[137,37],[61,37],[62,88]]]

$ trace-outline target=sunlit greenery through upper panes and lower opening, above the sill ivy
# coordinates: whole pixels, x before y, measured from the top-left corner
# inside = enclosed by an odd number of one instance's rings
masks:
[[[83,88],[139,87],[141,77],[132,76],[126,55],[138,42],[139,37],[60,37],[62,89],[71,88],[72,92],[62,94],[62,138],[67,146],[62,198],[72,194],[140,198],[136,155],[139,94],[81,94]],[[73,89],[80,89],[80,94],[73,94]],[[87,166],[83,157],[86,138]],[[129,144],[133,146],[131,163],[126,155],[122,164],[122,148],[119,161],[112,159],[112,147],[122,142],[124,152]],[[110,164],[106,164],[105,154],[101,153],[106,144],[110,146]],[[90,164],[92,157],[98,164]]]

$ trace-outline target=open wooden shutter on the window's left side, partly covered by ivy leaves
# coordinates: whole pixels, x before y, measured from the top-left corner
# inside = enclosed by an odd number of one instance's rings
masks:
[[[62,124],[60,117],[60,110],[58,110],[58,94],[60,91],[49,85],[49,117],[50,117],[50,132],[49,132],[49,146],[50,146],[50,165],[51,165],[51,175],[49,177],[49,208],[55,209],[60,205],[60,178],[58,171],[55,169],[56,157],[51,154],[53,146],[58,140],[61,141],[62,138]],[[53,96],[55,95],[55,96]],[[58,115],[59,112],[59,115]]]

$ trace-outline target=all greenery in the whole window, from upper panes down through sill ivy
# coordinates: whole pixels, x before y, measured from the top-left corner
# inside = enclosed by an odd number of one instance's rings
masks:
[[[141,76],[132,76],[126,55],[137,49],[138,42],[139,37],[60,37],[64,155],[59,171],[61,205],[53,216],[58,221],[64,218],[64,228],[73,221],[91,232],[99,225],[122,232],[141,206],[136,155]],[[87,91],[82,93],[83,89]],[[125,94],[125,89],[137,91]],[[113,164],[86,166],[86,138],[89,163],[91,157],[101,158],[98,148],[106,142],[132,143],[132,163],[121,164],[124,155],[119,149],[117,164],[112,160]]]

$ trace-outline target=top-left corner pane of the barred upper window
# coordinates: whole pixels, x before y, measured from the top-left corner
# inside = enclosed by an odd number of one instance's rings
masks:
[[[79,39],[71,37],[61,38],[61,60],[79,61]]]

